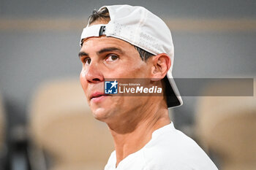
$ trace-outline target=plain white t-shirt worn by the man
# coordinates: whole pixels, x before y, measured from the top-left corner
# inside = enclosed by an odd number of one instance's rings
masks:
[[[124,158],[117,168],[113,151],[105,170],[217,170],[217,167],[193,139],[170,123],[154,131],[152,139]]]

